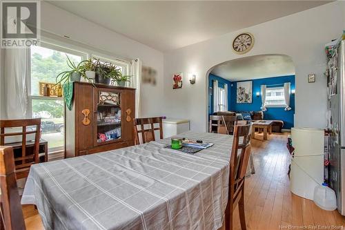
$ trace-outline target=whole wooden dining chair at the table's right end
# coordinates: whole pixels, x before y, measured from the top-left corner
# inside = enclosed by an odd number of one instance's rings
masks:
[[[246,230],[244,218],[244,179],[250,158],[252,122],[234,127],[233,148],[230,156],[228,204],[225,211],[225,229],[233,229],[233,211],[239,205],[241,229]]]

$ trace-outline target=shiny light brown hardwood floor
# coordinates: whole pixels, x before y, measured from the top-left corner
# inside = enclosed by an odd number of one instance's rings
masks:
[[[257,139],[252,140],[255,174],[246,179],[245,185],[247,229],[335,229],[332,226],[341,229],[345,226],[345,218],[337,211],[324,211],[313,201],[290,193],[286,134],[268,135],[266,141],[262,135],[255,134]],[[43,229],[32,205],[23,206],[23,213],[28,230]],[[234,217],[234,230],[237,229],[241,229],[238,209]]]

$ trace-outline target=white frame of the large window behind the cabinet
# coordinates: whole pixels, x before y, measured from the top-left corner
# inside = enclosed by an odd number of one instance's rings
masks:
[[[112,64],[115,64],[116,66],[121,66],[124,69],[124,75],[129,74],[130,70],[130,61],[126,61],[123,59],[119,59],[117,57],[112,57],[109,55],[103,55],[100,52],[95,52],[94,50],[90,50],[88,48],[81,48],[79,46],[75,46],[72,44],[68,44],[66,42],[62,42],[56,39],[50,39],[48,37],[42,37],[41,36],[41,42],[39,46],[43,48],[49,48],[52,50],[57,50],[60,52],[67,52],[70,53],[71,55],[78,55],[81,56],[83,60],[89,59],[89,58],[97,58],[100,59],[101,61],[108,61],[111,62]],[[63,100],[62,97],[44,97],[44,96],[39,96],[39,95],[31,95],[31,50],[29,49],[28,52],[28,60],[30,60],[30,65],[29,65],[29,74],[28,74],[28,113],[30,114],[30,117],[32,117],[32,100],[33,99],[51,99],[51,100]],[[65,109],[65,108],[63,108]],[[63,111],[63,116],[64,116],[64,111]],[[66,125],[66,124],[63,124]],[[64,138],[64,136],[63,136]],[[48,153],[56,153],[56,152],[61,152],[64,151],[64,146],[57,147],[57,148],[50,148],[48,149]]]

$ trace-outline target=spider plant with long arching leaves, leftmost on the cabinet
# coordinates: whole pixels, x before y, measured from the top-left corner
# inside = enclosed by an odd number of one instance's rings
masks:
[[[78,65],[76,65],[73,61],[70,60],[68,55],[67,57],[67,65],[70,67],[70,70],[63,71],[57,75],[56,82],[57,84],[65,84],[66,82],[76,82],[80,81],[81,76],[85,77],[85,71],[83,69],[83,63],[88,60],[80,61]],[[56,84],[56,85],[57,85]]]

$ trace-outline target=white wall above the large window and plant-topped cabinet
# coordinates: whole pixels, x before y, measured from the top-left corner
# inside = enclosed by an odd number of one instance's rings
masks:
[[[117,23],[116,21],[114,23]],[[118,22],[118,23],[121,23]],[[152,103],[152,99],[162,95],[163,88],[163,53],[137,41],[112,32],[95,23],[72,15],[50,3],[41,1],[41,29],[62,37],[68,35],[71,40],[86,44],[92,48],[105,50],[112,56],[143,61],[144,66],[157,70],[157,86],[148,84],[141,88],[141,115],[161,115],[161,100]],[[63,38],[61,38],[63,39]]]

